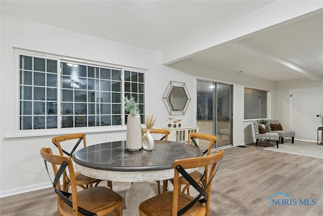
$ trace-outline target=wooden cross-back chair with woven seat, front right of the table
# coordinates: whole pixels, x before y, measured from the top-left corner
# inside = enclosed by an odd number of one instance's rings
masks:
[[[203,157],[187,158],[175,160],[173,162],[174,168],[174,190],[172,192],[165,192],[143,201],[139,205],[139,215],[141,216],[169,216],[169,215],[210,215],[210,198],[212,180],[220,165],[217,162],[224,156],[224,150],[217,151],[215,154],[210,154]],[[188,168],[205,168],[205,187],[201,187],[185,169]],[[199,192],[196,197],[192,197],[180,190],[180,174],[191,182],[192,186]],[[204,197],[200,199],[201,197]],[[204,205],[202,204],[204,203]]]

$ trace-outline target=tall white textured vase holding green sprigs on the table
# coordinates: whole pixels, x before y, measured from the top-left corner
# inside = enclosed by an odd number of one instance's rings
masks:
[[[133,117],[131,114],[127,117],[127,140],[126,148],[129,151],[138,151],[142,147],[142,130],[140,115]]]

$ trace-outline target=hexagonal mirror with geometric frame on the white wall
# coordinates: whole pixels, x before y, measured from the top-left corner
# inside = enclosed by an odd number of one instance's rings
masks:
[[[170,81],[163,100],[170,115],[184,115],[191,98],[184,82]]]

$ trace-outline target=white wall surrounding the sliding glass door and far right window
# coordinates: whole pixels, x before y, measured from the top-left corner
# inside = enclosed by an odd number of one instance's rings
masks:
[[[198,74],[198,78],[233,84],[233,145],[243,145],[255,140],[251,120],[244,121],[244,87],[251,87],[271,92],[271,117],[276,117],[276,82],[249,76],[243,73],[226,71],[192,60],[183,60],[171,65],[189,74]],[[196,76],[195,76],[196,78]],[[192,98],[195,100],[195,98]]]

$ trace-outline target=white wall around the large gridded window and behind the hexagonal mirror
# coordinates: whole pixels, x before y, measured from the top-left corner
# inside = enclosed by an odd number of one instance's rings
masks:
[[[75,57],[104,63],[131,66],[148,70],[148,112],[157,118],[155,127],[167,126],[168,111],[163,95],[169,81],[185,82],[194,96],[193,76],[161,65],[160,53],[133,47],[119,42],[79,34],[7,14],[1,14],[1,196],[32,190],[49,185],[39,150],[52,147],[52,136],[8,138],[14,135],[14,119],[18,104],[18,88],[14,70],[13,48]],[[194,106],[190,105],[182,124],[194,125]],[[84,131],[87,133],[86,131]],[[126,133],[87,133],[88,145],[106,141],[125,140]]]

